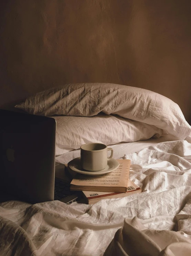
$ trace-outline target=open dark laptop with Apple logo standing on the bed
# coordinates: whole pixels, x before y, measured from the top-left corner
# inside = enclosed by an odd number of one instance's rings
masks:
[[[1,201],[77,201],[68,180],[55,178],[55,147],[54,118],[0,109]],[[57,169],[64,165],[56,163]]]

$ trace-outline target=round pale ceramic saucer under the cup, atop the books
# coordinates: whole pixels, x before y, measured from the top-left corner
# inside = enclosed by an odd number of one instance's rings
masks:
[[[86,174],[89,176],[99,176],[99,175],[110,173],[111,171],[116,170],[119,167],[119,162],[111,158],[111,159],[108,159],[108,164],[105,167],[105,169],[103,169],[102,171],[86,171],[81,167],[80,157],[77,157],[68,163],[68,167],[71,170],[76,171],[77,173]]]

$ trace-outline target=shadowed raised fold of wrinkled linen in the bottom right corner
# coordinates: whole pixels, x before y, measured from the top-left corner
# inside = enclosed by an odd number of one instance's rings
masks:
[[[164,248],[164,249],[163,249]],[[125,218],[104,256],[190,256],[191,239],[180,231],[150,230],[134,217]]]

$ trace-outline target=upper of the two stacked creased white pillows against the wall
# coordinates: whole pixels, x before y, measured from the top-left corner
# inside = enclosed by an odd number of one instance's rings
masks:
[[[179,139],[191,136],[180,107],[169,98],[112,83],[74,83],[38,92],[16,105],[36,115],[94,116],[100,112],[155,125]]]

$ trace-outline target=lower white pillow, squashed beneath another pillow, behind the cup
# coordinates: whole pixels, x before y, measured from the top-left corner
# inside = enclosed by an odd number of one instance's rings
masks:
[[[51,116],[57,122],[56,156],[90,142],[112,145],[119,142],[159,138],[162,130],[120,116],[98,114],[92,117]]]

